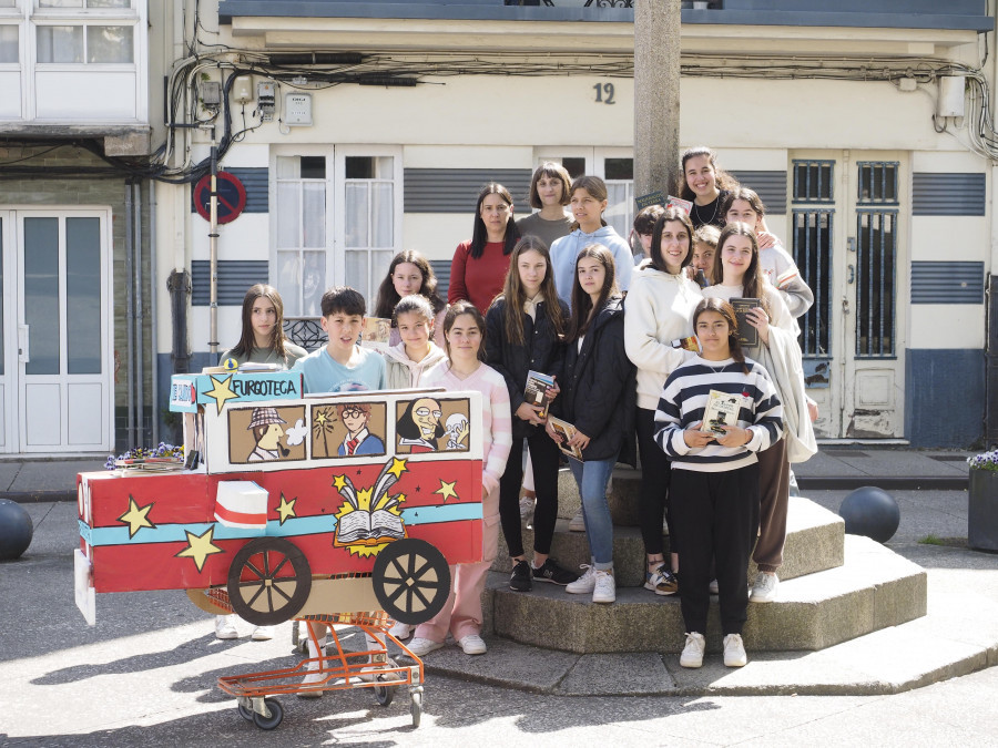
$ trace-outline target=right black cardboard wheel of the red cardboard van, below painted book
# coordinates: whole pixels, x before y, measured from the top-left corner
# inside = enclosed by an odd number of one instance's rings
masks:
[[[375,597],[396,621],[415,625],[437,615],[450,594],[447,559],[416,537],[389,543],[375,559]]]

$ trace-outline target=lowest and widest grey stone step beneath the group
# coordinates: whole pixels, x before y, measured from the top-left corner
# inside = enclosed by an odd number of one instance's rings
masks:
[[[919,566],[866,537],[847,535],[844,549],[843,565],[782,582],[772,603],[750,603],[746,649],[817,650],[925,615],[926,574]],[[491,633],[547,649],[679,653],[683,647],[679,598],[641,588],[622,587],[614,604],[597,605],[589,595],[551,584],[511,592],[508,577],[493,573],[483,603]],[[713,597],[710,652],[721,645],[717,615]]]

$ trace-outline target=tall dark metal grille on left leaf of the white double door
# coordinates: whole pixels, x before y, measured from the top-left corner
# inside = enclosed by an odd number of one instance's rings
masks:
[[[805,358],[832,356],[832,237],[835,211],[793,212],[793,254],[801,277],[814,291],[814,306],[797,321]]]

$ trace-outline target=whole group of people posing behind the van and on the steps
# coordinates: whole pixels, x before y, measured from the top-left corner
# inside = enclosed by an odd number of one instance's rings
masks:
[[[432,619],[390,629],[413,636],[414,654],[442,647],[448,634],[466,654],[486,653],[481,593],[500,527],[511,590],[553,583],[593,603],[614,602],[607,491],[614,465],[639,458],[644,587],[679,594],[686,629],[680,664],[702,665],[712,593],[724,664],[747,662],[741,633],[750,594],[760,603],[777,594],[791,463],[816,451],[817,411],[804,391],[796,322],[814,297],[766,227],[756,193],[721,170],[713,151],[683,153],[679,194],[692,203],[689,214],[644,208],[629,242],[602,217],[608,192],[599,177],[572,180],[560,164],[542,164],[529,191],[536,212],[519,221],[509,191],[486,185],[471,239],[454,255],[447,303],[419,253],[391,260],[374,305],[375,316],[393,320],[384,356],[357,345],[366,306],[354,289],[323,296],[328,344],[307,355],[284,339],[277,291],[254,286],[246,294],[242,338],[223,358],[301,370],[306,392],[444,387],[482,395],[482,561],[451,568],[451,594]],[[757,345],[739,342],[732,298],[760,299],[744,317]],[[549,412],[576,429],[567,444],[544,409],[526,400],[531,370],[553,377]],[[712,390],[740,398],[724,436],[701,430]],[[581,574],[550,556],[560,445],[582,455],[568,458],[582,500],[571,525],[584,530],[591,556]],[[751,593],[750,557],[758,567]]]

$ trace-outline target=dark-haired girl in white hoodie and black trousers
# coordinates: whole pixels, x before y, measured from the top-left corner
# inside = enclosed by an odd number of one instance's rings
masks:
[[[666,208],[652,232],[651,265],[634,278],[624,316],[624,347],[638,368],[634,426],[641,455],[639,512],[648,556],[645,590],[658,595],[676,591],[680,537],[670,521],[671,563],[665,563],[662,518],[669,496],[669,458],[654,440],[654,416],[665,378],[692,353],[676,341],[693,332],[693,309],[703,298],[685,271],[693,254],[693,226],[681,208]]]

